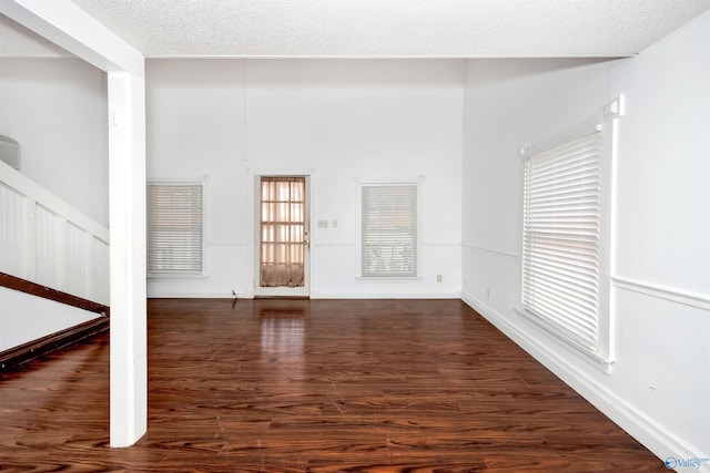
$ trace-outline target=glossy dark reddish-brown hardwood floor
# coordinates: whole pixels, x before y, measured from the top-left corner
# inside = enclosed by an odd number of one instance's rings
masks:
[[[667,471],[457,300],[150,300],[149,376],[111,449],[105,333],[0,374],[0,471]]]

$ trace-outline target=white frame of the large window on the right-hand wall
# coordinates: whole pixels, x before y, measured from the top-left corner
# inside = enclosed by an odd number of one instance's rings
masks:
[[[612,323],[612,305],[611,305],[611,267],[613,256],[613,162],[616,155],[617,140],[617,120],[622,116],[622,96],[616,97],[601,111],[594,116],[571,126],[547,140],[534,145],[525,144],[520,148],[523,156],[521,172],[521,215],[520,215],[520,276],[518,287],[517,311],[527,320],[534,322],[537,327],[546,330],[554,336],[564,346],[570,348],[574,352],[581,356],[582,359],[591,362],[600,370],[610,373],[613,366],[613,323]],[[590,133],[599,133],[600,138],[600,191],[599,191],[599,248],[598,248],[598,312],[597,312],[597,338],[595,343],[590,346],[587,340],[580,340],[574,331],[568,330],[562,325],[557,323],[554,318],[544,313],[537,313],[529,310],[524,305],[525,291],[525,202],[526,202],[526,184],[525,167],[526,162],[534,160],[541,154],[571,143],[575,140],[588,135]]]

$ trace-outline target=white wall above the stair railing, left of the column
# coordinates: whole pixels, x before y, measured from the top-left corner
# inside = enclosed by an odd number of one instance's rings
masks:
[[[105,73],[79,59],[0,58],[0,103],[22,173],[108,226]]]

